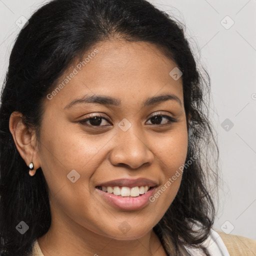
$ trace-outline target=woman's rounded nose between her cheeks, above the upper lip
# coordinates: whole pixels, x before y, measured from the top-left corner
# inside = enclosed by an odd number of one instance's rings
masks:
[[[153,162],[153,152],[149,141],[141,133],[135,132],[131,126],[127,131],[118,130],[115,135],[110,162],[115,166],[137,169],[143,164]]]

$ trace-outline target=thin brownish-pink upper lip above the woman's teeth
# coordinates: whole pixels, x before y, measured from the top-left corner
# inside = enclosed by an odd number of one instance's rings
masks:
[[[97,186],[157,186],[157,182],[148,179],[148,178],[137,178],[137,179],[129,179],[129,178],[119,178],[114,180],[109,180],[106,182],[102,182]]]

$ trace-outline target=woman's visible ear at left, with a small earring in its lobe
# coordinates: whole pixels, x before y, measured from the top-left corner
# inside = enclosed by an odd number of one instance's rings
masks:
[[[34,175],[36,169],[40,167],[37,148],[35,148],[35,132],[27,127],[22,118],[22,113],[14,111],[9,118],[9,130],[12,134],[16,148],[20,156],[24,159],[27,166],[32,161],[33,170],[29,170],[29,174]]]

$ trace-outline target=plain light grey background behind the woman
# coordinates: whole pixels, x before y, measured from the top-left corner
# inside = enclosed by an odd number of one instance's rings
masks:
[[[20,16],[29,18],[45,2],[0,0],[1,85],[24,22]],[[222,182],[214,228],[256,240],[256,0],[150,2],[185,23],[193,52],[211,77]]]

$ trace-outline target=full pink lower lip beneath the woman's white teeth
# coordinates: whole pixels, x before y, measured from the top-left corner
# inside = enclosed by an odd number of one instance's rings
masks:
[[[122,210],[136,210],[144,207],[149,202],[149,197],[154,193],[155,189],[156,186],[137,197],[120,197],[96,188],[99,194],[103,196],[108,203]]]

